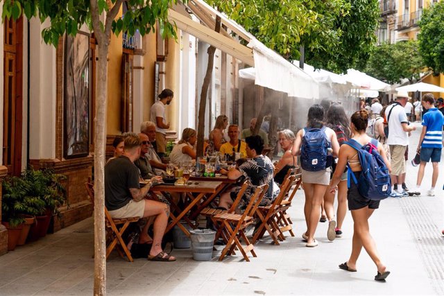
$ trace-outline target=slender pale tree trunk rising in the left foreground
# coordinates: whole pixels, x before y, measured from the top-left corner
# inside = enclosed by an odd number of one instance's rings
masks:
[[[94,295],[105,295],[105,144],[108,92],[108,42],[99,44],[96,116],[94,118]]]

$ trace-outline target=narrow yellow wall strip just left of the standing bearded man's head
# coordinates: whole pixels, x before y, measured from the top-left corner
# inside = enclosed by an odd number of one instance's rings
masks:
[[[156,61],[156,40],[155,33],[144,36],[144,105],[148,106],[144,111],[144,121],[150,120],[150,107],[155,102],[154,98],[154,71]]]

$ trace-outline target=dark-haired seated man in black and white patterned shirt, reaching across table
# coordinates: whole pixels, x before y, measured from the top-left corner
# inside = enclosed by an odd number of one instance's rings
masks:
[[[221,173],[227,174],[228,179],[231,180],[237,180],[241,175],[244,175],[250,180],[253,186],[248,186],[244,193],[243,199],[246,202],[250,201],[257,186],[268,184],[268,190],[266,191],[261,204],[269,204],[278,195],[278,191],[273,192],[273,188],[278,187],[273,181],[273,164],[268,157],[262,155],[264,141],[262,141],[262,138],[259,137],[259,135],[247,137],[245,141],[247,143],[247,157],[250,159],[241,164],[239,168],[230,168],[229,171],[221,170]],[[219,207],[230,209],[239,190],[240,187],[236,187],[231,192],[223,193],[219,200]]]

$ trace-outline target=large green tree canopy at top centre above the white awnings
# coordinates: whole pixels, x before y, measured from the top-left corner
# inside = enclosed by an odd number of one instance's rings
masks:
[[[376,40],[377,0],[205,1],[288,60],[298,60],[303,45],[316,68],[362,69]]]

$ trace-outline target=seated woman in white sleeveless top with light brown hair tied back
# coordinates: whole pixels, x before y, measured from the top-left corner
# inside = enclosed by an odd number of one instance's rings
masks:
[[[182,139],[173,147],[169,155],[171,164],[178,166],[180,162],[191,162],[191,159],[196,159],[196,151],[193,149],[196,140],[196,130],[185,128],[182,132]]]

